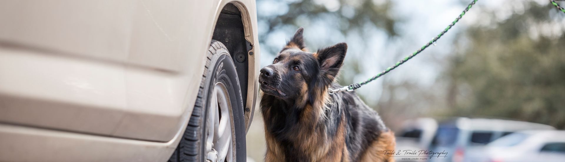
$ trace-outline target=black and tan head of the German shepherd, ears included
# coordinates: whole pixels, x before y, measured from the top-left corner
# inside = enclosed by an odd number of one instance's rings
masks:
[[[299,28],[273,63],[260,70],[259,83],[264,95],[299,105],[315,104],[327,97],[327,89],[344,62],[347,44],[338,43],[311,53],[302,32],[303,28]]]

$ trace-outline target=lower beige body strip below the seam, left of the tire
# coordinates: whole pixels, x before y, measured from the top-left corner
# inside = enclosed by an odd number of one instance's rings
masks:
[[[0,161],[167,161],[180,135],[150,142],[0,123]]]

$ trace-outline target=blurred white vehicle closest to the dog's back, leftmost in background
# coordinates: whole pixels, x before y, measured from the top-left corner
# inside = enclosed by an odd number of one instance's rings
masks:
[[[436,130],[437,121],[433,118],[407,120],[403,123],[402,130],[396,133],[396,150],[428,150]],[[396,157],[397,161],[405,161],[402,159],[401,156]]]

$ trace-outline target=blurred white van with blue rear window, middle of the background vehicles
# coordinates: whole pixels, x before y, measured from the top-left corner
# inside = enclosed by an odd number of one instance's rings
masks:
[[[458,117],[442,121],[438,125],[430,150],[447,152],[446,157],[429,161],[470,161],[476,152],[482,152],[485,144],[521,130],[554,130],[549,125],[523,121],[489,118]]]

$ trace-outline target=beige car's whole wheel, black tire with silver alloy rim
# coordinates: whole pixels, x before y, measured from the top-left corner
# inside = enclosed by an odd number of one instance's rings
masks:
[[[245,161],[244,105],[228,50],[212,40],[184,135],[169,161]]]

